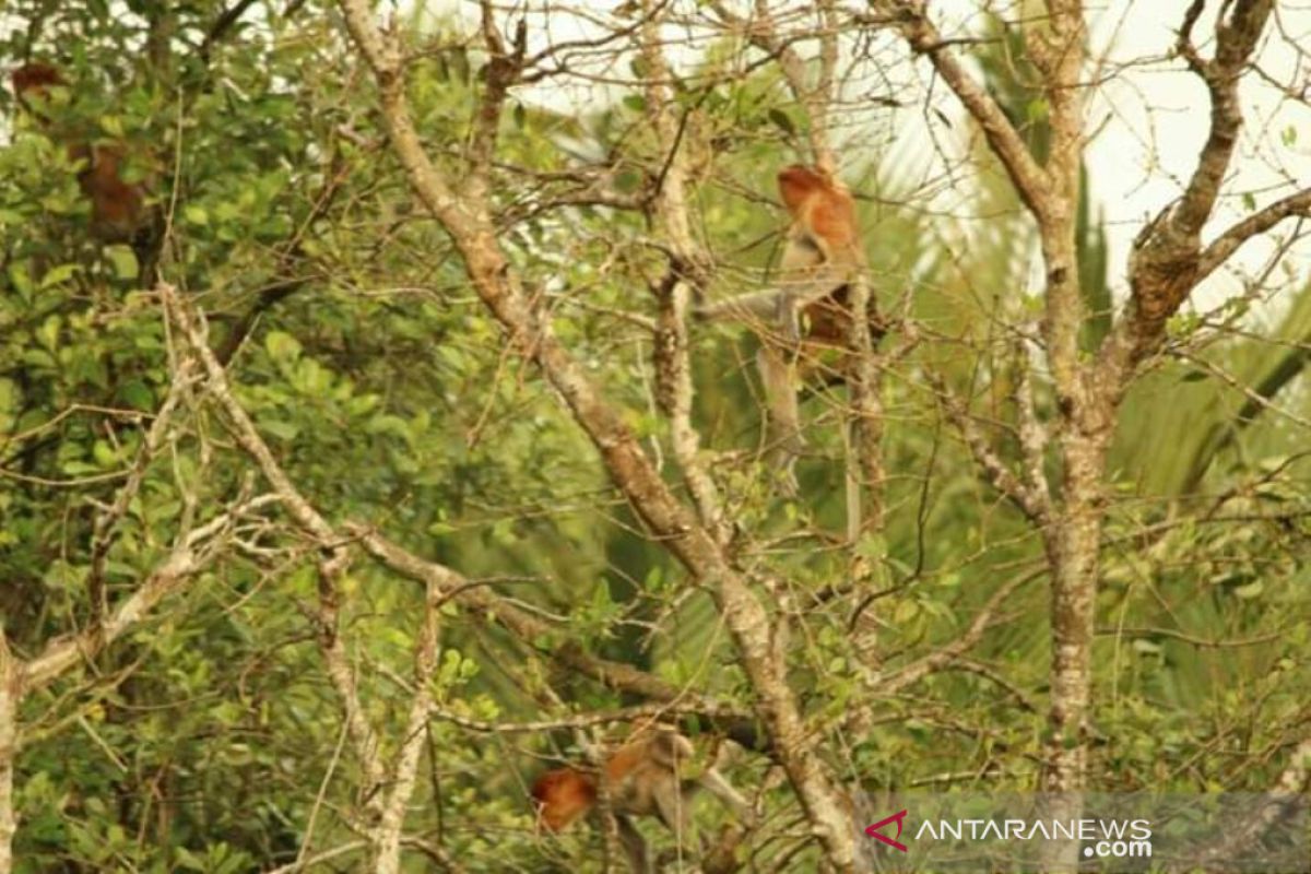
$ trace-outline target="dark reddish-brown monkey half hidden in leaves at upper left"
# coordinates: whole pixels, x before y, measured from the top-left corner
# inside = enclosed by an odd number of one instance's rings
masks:
[[[136,242],[147,228],[146,189],[125,182],[122,170],[127,152],[121,144],[96,145],[63,134],[51,132],[51,119],[45,114],[51,89],[66,88],[63,75],[43,63],[24,64],[9,76],[14,97],[51,139],[63,143],[71,161],[83,164],[77,183],[90,200],[90,232],[101,242]],[[39,101],[39,102],[38,102]],[[140,259],[140,253],[138,256]]]

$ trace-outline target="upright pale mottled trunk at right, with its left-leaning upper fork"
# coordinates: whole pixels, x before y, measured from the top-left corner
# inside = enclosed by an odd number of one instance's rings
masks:
[[[1101,480],[1113,408],[1096,373],[1079,358],[1086,316],[1079,290],[1075,225],[1079,169],[1083,160],[1083,94],[1080,81],[1087,30],[1078,0],[1047,0],[1046,18],[1025,25],[1025,48],[1042,75],[1051,145],[1040,165],[1006,113],[952,54],[928,18],[924,4],[888,1],[880,8],[898,22],[907,43],[924,54],[983,131],[1016,194],[1037,224],[1046,273],[1042,339],[1059,411],[1059,457],[1063,480],[1051,501],[1042,474],[1045,446],[1025,446],[1017,478],[996,451],[975,439],[971,452],[992,485],[1042,527],[1051,574],[1051,739],[1046,747],[1042,788],[1083,788],[1087,753],[1083,725],[1091,700],[1093,601],[1101,536]],[[961,419],[960,405],[953,417]],[[1030,425],[1030,423],[1024,423]]]

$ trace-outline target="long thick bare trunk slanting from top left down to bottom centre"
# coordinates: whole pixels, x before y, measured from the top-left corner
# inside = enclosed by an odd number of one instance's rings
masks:
[[[510,334],[511,347],[541,367],[551,385],[591,438],[611,478],[637,514],[695,577],[705,582],[737,645],[770,732],[825,854],[839,871],[855,866],[855,840],[839,791],[805,742],[801,709],[788,683],[787,653],[747,580],[732,567],[697,519],[673,495],[619,411],[607,404],[578,362],[555,338],[549,320],[530,305],[499,248],[485,199],[455,198],[423,152],[405,105],[399,47],[383,39],[364,0],[341,0],[346,26],[378,79],[392,147],[418,198],[442,221],[464,257],[475,290]],[[477,186],[473,186],[476,190]],[[469,190],[469,186],[465,186]]]

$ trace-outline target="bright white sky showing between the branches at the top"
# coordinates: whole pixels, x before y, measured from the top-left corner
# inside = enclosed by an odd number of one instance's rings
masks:
[[[595,38],[603,33],[597,20],[607,18],[607,12],[616,5],[620,4],[614,0],[581,0],[578,8],[586,9],[587,17],[594,17],[593,21],[586,21],[570,13],[568,4],[534,0],[528,8],[539,14],[541,10],[549,12],[530,18],[531,42],[540,48],[548,41],[558,43],[581,37]],[[676,4],[675,8],[691,4]],[[779,9],[792,10],[804,5],[775,4]],[[948,37],[965,35],[981,26],[979,0],[929,0],[928,5]],[[998,5],[1009,9],[1009,4]],[[1095,59],[1104,59],[1103,73],[1120,68],[1089,101],[1087,126],[1089,131],[1095,131],[1087,160],[1093,197],[1108,221],[1112,283],[1118,294],[1126,291],[1124,266],[1134,235],[1146,218],[1180,194],[1206,138],[1209,104],[1205,88],[1194,75],[1184,69],[1183,62],[1165,59],[1175,45],[1175,29],[1183,21],[1188,5],[1188,0],[1093,0],[1088,4],[1092,55]],[[1213,48],[1209,35],[1213,33],[1219,3],[1211,0],[1207,7],[1194,29],[1194,39],[1201,43],[1203,55],[1209,55]],[[467,0],[437,0],[434,12],[440,9],[448,13],[452,8],[471,25],[476,21],[476,8]],[[787,13],[780,17],[787,17]],[[1276,18],[1268,28],[1257,62],[1274,80],[1290,85],[1294,92],[1307,86],[1311,96],[1311,58],[1303,56],[1295,47],[1302,45],[1311,50],[1311,0],[1281,1]],[[621,24],[632,24],[632,18]],[[696,62],[697,48],[678,50],[673,46],[695,43],[705,47],[711,45],[707,35],[697,34],[688,39],[687,30],[671,28],[666,31],[671,45],[670,54],[675,55],[678,63],[691,66]],[[798,45],[806,47],[804,42]],[[889,37],[888,42],[880,45],[894,46],[895,41]],[[881,56],[889,64],[897,64],[897,58],[905,58],[905,48],[901,46],[893,54]],[[611,59],[606,69],[598,66],[589,72],[619,79],[629,76],[627,59],[619,63]],[[927,60],[918,62],[915,72],[922,84],[931,81]],[[890,68],[889,75],[906,81],[909,72],[901,63],[901,68]],[[886,93],[886,86],[876,79],[871,67],[852,79],[848,90],[855,90],[857,96],[865,90],[877,94]],[[520,90],[517,96],[557,111],[593,113],[621,93],[617,89],[591,86],[578,79],[557,79],[534,90]],[[1290,194],[1297,186],[1311,185],[1311,109],[1289,100],[1255,73],[1249,73],[1244,81],[1243,96],[1247,122],[1224,189],[1228,197],[1217,211],[1209,227],[1210,233],[1245,215],[1243,193],[1251,193],[1257,204],[1264,204]],[[852,94],[848,93],[848,97]],[[914,102],[901,110],[871,106],[868,114],[857,114],[842,127],[839,138],[853,144],[844,153],[851,156],[857,148],[868,148],[863,144],[872,143],[874,148],[889,149],[895,166],[915,170],[916,178],[940,181],[952,159],[960,160],[964,155],[964,131],[970,127],[964,123],[960,105],[947,94],[941,81],[935,85],[933,105],[952,119],[950,128],[931,121]],[[928,128],[931,123],[936,127],[933,135]],[[861,128],[865,131],[861,132]],[[944,151],[953,155],[944,159]],[[853,162],[859,164],[860,160]],[[970,195],[958,186],[943,190],[937,197],[939,200],[933,203],[937,208],[953,214],[969,210]],[[1291,227],[1291,221],[1282,225],[1286,233]],[[1214,305],[1221,296],[1240,287],[1242,276],[1257,275],[1273,249],[1273,241],[1248,244],[1232,262],[1236,273],[1213,278],[1209,287],[1194,295],[1194,303]],[[1302,241],[1283,259],[1281,270],[1270,282],[1274,287],[1286,288],[1287,283],[1304,282],[1308,276],[1311,244]],[[1277,312],[1280,307],[1273,309]]]

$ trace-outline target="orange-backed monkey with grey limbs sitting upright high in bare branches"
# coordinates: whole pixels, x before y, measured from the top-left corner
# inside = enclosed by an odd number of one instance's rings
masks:
[[[712,304],[700,314],[745,322],[760,335],[756,367],[770,415],[771,464],[791,491],[792,468],[805,447],[797,363],[815,360],[825,349],[850,349],[853,317],[847,299],[861,259],[855,203],[831,174],[787,166],[779,173],[779,194],[792,218],[779,287]],[[874,316],[871,332],[882,334]]]

